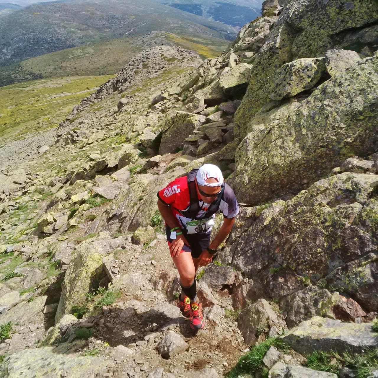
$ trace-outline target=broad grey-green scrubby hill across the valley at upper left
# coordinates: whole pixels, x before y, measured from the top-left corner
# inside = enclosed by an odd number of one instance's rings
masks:
[[[237,29],[150,0],[73,0],[0,15],[0,66],[90,42],[163,30],[232,39]]]

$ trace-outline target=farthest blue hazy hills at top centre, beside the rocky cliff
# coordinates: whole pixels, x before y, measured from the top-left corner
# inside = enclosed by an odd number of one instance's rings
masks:
[[[262,0],[155,0],[172,8],[223,22],[230,26],[242,27],[260,16]]]

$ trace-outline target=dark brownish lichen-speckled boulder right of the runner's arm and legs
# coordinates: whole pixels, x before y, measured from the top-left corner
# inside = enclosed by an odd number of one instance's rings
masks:
[[[228,240],[231,265],[263,284],[267,297],[287,297],[282,303],[292,325],[328,313],[325,304],[333,300],[323,288],[378,311],[377,187],[376,175],[344,172],[286,202],[243,207]],[[310,292],[322,305],[308,298],[303,311],[294,306]]]

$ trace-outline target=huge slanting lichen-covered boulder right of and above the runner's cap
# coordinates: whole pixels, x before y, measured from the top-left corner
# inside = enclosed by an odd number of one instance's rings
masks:
[[[374,56],[336,74],[304,101],[251,116],[230,177],[239,201],[254,205],[296,194],[351,155],[375,152],[377,96]]]

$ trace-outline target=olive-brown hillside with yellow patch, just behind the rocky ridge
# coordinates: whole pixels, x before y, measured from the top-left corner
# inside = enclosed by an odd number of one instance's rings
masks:
[[[0,87],[54,76],[115,74],[130,58],[146,48],[147,43],[153,43],[157,38],[164,38],[168,42],[194,50],[204,59],[218,56],[227,46],[227,41],[224,39],[198,34],[189,36],[164,32],[150,38],[125,37],[91,43],[0,67]]]

